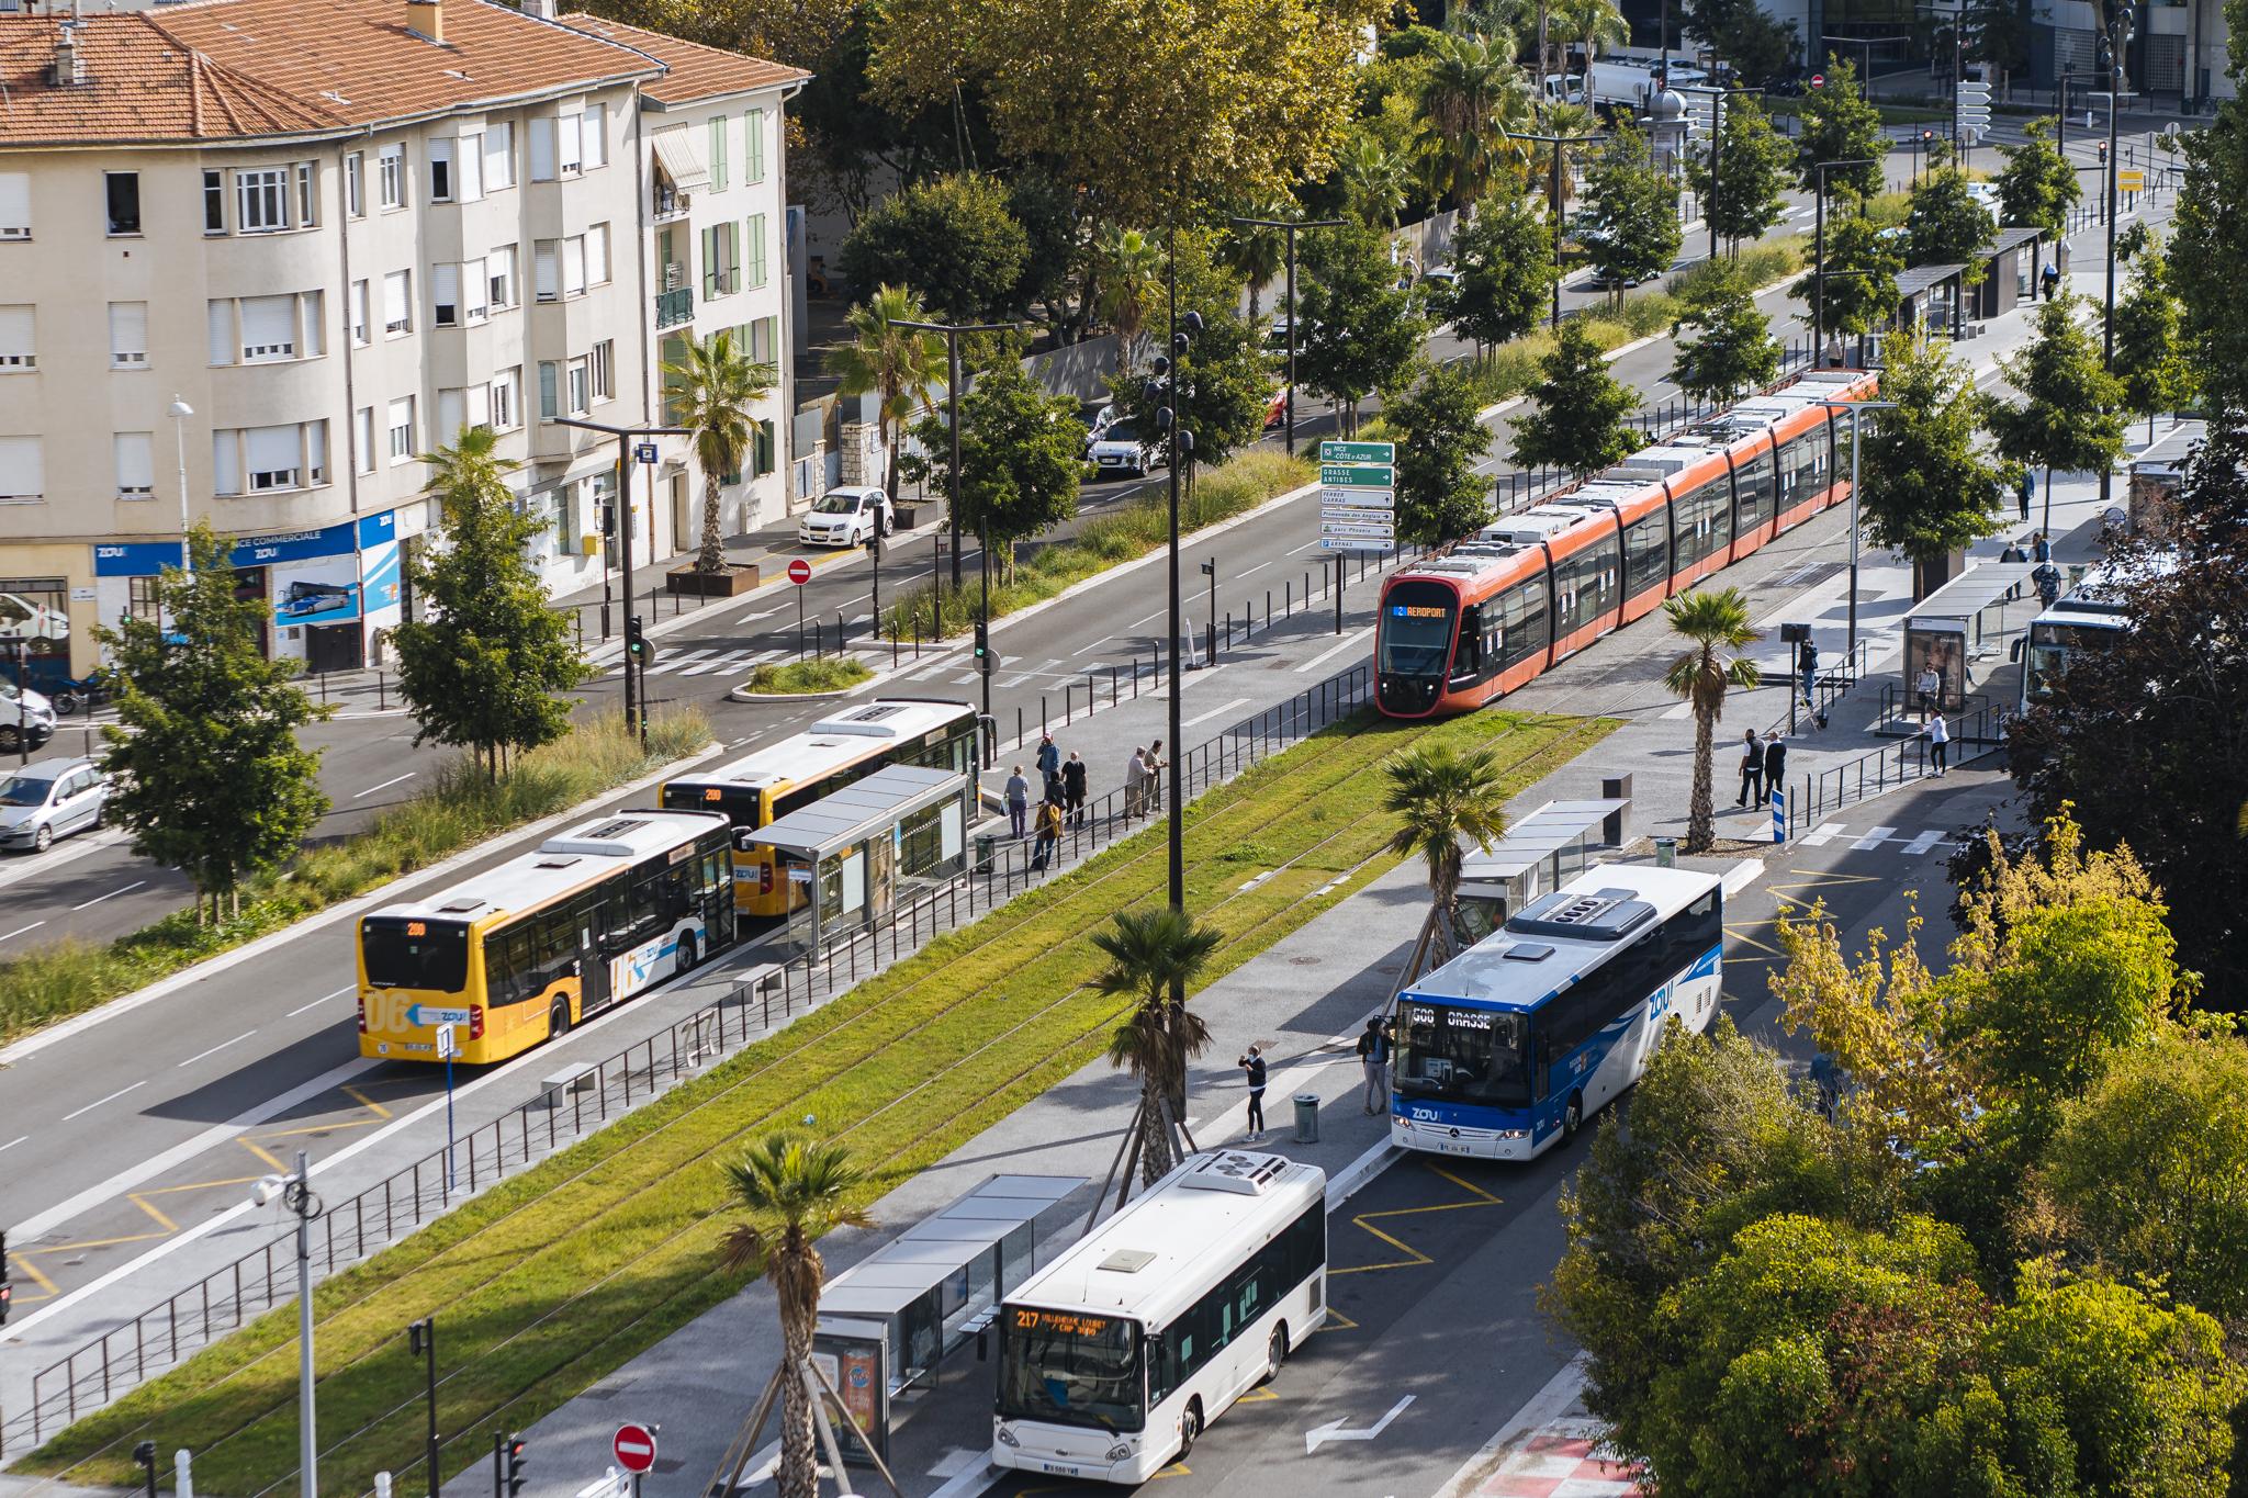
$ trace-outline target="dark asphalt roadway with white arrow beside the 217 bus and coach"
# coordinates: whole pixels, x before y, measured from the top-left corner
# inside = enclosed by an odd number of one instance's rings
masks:
[[[1825,901],[1846,946],[1861,946],[1870,928],[1902,934],[1918,892],[1931,916],[1920,950],[1940,963],[1951,838],[2003,791],[1989,770],[1958,770],[1855,809],[1846,831],[1778,856],[1726,910],[1724,1011],[1733,1022],[1807,1065],[1810,1051],[1778,1033],[1767,988],[1783,907]],[[1630,1107],[1630,1094],[1619,1107]],[[1538,1287],[1565,1249],[1558,1197],[1589,1145],[1587,1130],[1524,1166],[1423,1154],[1392,1163],[1329,1220],[1338,1316],[1279,1379],[1212,1424],[1185,1462],[1158,1473],[1155,1491],[1365,1498],[1441,1489],[1574,1354],[1540,1312]],[[1389,1410],[1396,1417],[1371,1440],[1306,1449],[1320,1426],[1369,1431]],[[991,1491],[1113,1489],[1009,1473]]]

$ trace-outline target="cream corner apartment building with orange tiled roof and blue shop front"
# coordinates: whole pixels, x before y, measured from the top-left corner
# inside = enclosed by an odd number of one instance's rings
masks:
[[[0,631],[34,683],[153,609],[191,519],[238,537],[277,656],[375,658],[436,519],[420,456],[463,427],[519,465],[549,586],[602,579],[618,445],[562,418],[661,418],[650,133],[762,101],[778,146],[800,74],[695,49],[677,79],[670,38],[528,2],[0,16]],[[778,216],[778,171],[760,193]],[[634,467],[668,555],[692,537],[645,485],[699,490],[692,460]]]

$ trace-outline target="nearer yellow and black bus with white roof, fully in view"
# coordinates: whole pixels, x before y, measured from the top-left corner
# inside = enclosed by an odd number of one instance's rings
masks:
[[[731,833],[618,811],[452,889],[360,916],[360,1056],[492,1062],[733,946]]]

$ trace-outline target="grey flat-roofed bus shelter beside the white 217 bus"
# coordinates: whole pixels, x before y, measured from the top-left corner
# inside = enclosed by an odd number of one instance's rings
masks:
[[[937,1386],[942,1361],[991,1325],[1039,1269],[1039,1237],[1077,1175],[994,1175],[827,1280],[812,1359],[852,1419],[888,1455],[901,1401]],[[865,1462],[850,1431],[843,1458]]]

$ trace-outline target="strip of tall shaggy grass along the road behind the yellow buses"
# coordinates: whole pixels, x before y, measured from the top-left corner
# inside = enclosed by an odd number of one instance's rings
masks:
[[[465,757],[427,791],[391,806],[366,831],[324,842],[243,892],[243,914],[198,925],[191,910],[115,941],[52,941],[0,963],[0,1042],[171,977],[207,957],[268,937],[337,901],[425,869],[504,831],[537,822],[641,779],[710,743],[701,707],[650,714],[643,750],[605,714],[531,750],[497,782]]]

